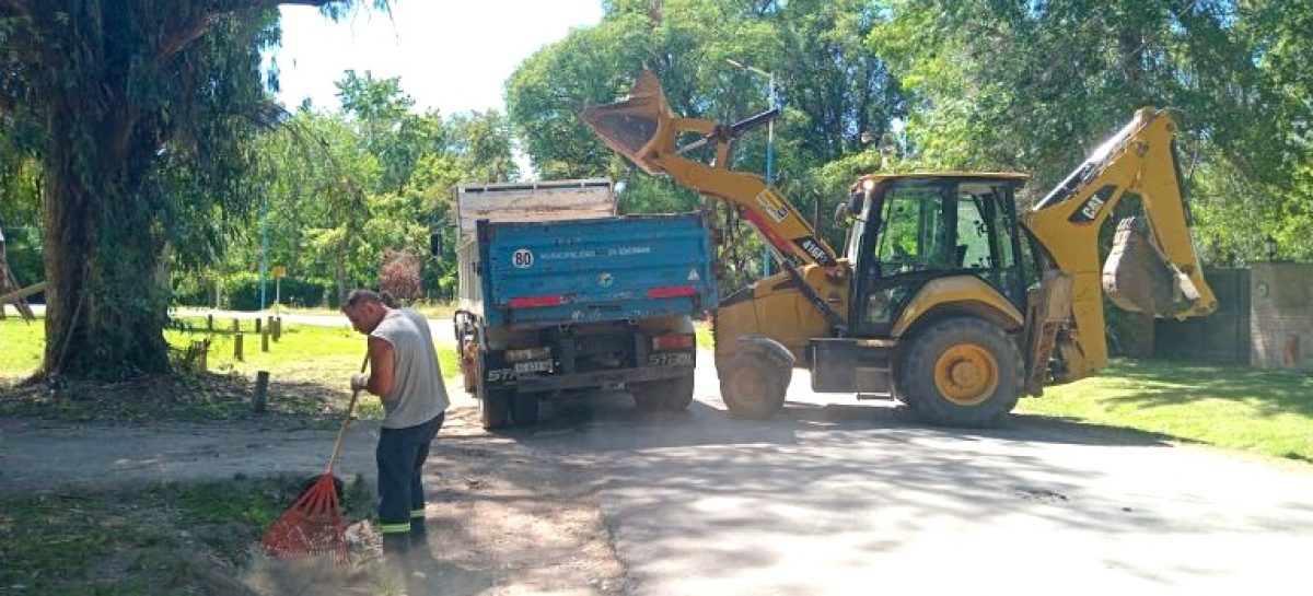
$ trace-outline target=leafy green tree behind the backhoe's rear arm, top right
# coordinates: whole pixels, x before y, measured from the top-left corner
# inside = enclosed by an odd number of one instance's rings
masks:
[[[886,4],[869,45],[913,96],[909,164],[1028,172],[1035,198],[1133,110],[1171,108],[1204,259],[1262,257],[1264,236],[1300,253],[1308,3]]]

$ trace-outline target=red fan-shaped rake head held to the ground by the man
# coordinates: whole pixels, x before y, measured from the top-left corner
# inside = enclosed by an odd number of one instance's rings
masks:
[[[348,563],[347,528],[332,474],[324,474],[274,520],[260,543],[280,558],[331,554],[339,566]]]

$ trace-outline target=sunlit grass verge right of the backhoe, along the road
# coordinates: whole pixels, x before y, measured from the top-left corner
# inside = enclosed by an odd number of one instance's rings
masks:
[[[1098,377],[1023,399],[1022,414],[1133,428],[1313,462],[1313,375],[1165,361],[1113,361]]]

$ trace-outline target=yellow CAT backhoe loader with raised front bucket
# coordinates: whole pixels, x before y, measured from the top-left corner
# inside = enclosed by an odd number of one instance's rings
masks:
[[[784,404],[793,368],[815,391],[894,398],[923,419],[989,425],[1022,395],[1107,364],[1103,295],[1154,316],[1216,309],[1191,243],[1167,112],[1141,109],[1033,207],[1020,173],[874,173],[840,206],[843,253],[760,176],[729,169],[738,123],[674,114],[651,72],[628,98],[584,121],[650,175],[729,202],[783,270],[721,299],[716,366],[730,412],[763,419]],[[684,143],[684,144],[679,144]],[[714,150],[704,163],[691,150]],[[1138,197],[1099,264],[1099,230]]]

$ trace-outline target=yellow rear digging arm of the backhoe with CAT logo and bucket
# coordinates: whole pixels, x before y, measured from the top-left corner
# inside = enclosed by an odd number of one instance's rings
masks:
[[[1167,112],[1136,112],[1130,123],[1025,214],[1024,226],[1045,253],[1045,269],[1071,278],[1074,327],[1056,337],[1062,368],[1050,382],[1085,378],[1107,364],[1100,290],[1119,307],[1154,316],[1201,316],[1217,307],[1190,236],[1175,134]],[[1134,227],[1119,228],[1113,253],[1100,272],[1099,228],[1127,196],[1140,197],[1146,238],[1134,244],[1140,238]]]

